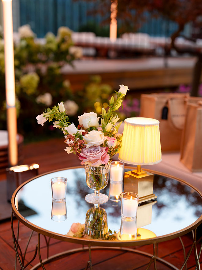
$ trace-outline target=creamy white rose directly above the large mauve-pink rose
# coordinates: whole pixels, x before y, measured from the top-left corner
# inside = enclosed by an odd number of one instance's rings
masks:
[[[106,140],[104,133],[97,130],[88,132],[85,136],[83,136],[83,139],[86,142],[86,148],[101,145]]]

